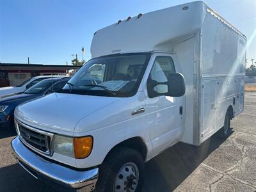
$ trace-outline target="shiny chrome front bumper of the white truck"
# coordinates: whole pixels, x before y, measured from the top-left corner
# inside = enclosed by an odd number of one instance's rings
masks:
[[[12,149],[18,163],[36,179],[46,179],[65,188],[84,188],[85,191],[93,191],[95,188],[99,168],[77,171],[49,162],[31,152],[23,145],[19,137],[12,140]]]

